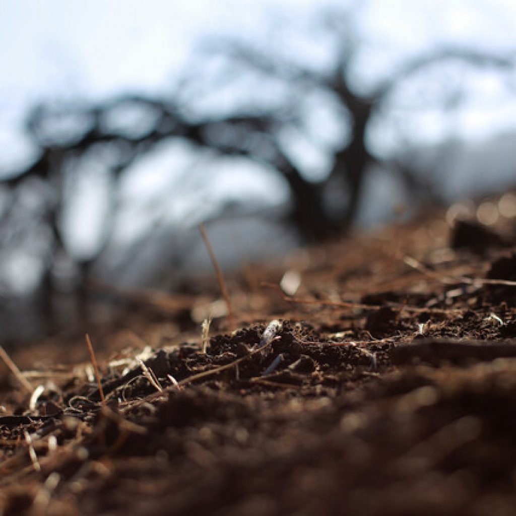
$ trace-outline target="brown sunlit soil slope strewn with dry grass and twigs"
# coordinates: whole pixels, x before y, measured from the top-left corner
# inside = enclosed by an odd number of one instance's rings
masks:
[[[513,230],[439,212],[247,266],[204,344],[215,279],[118,292],[102,389],[82,336],[9,349],[0,513],[514,513]]]

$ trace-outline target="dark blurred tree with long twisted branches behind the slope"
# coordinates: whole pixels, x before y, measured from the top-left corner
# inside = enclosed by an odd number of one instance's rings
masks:
[[[96,173],[102,178],[105,191],[104,222],[98,243],[87,255],[73,255],[79,278],[76,292],[86,314],[90,271],[112,236],[120,180],[137,159],[165,141],[182,139],[221,156],[253,160],[280,174],[290,193],[288,220],[304,240],[325,239],[349,227],[357,215],[364,181],[373,165],[382,165],[398,174],[410,188],[430,195],[431,185],[414,173],[409,162],[387,162],[370,150],[370,124],[382,116],[393,92],[415,74],[435,72],[436,66],[450,61],[474,68],[511,70],[512,57],[475,49],[434,49],[407,59],[376,84],[366,86],[357,82],[353,74],[360,39],[354,37],[349,18],[332,15],[326,22],[325,30],[331,33],[335,50],[332,63],[323,70],[299,56],[281,58],[252,44],[218,39],[209,42],[203,57],[192,64],[167,98],[120,94],[94,104],[42,104],[31,110],[26,128],[37,157],[24,170],[2,180],[9,195],[0,232],[3,246],[21,241],[22,234],[25,239],[41,231],[50,236],[41,275],[46,306],[53,289],[55,257],[71,256],[63,233],[63,213],[79,182]],[[214,60],[219,66],[210,74],[207,71],[212,70]],[[248,96],[243,102],[230,102],[229,107],[227,102],[222,108],[215,101],[203,109],[206,93],[214,98],[224,91],[221,94],[227,96],[230,88],[231,96],[233,85],[235,98],[239,98],[246,80],[251,80],[257,90],[253,91],[254,101],[251,95],[251,100]],[[272,99],[263,102],[262,84],[268,85],[269,91],[276,88],[280,93],[269,95]],[[450,94],[443,89],[443,108],[454,95],[460,95],[460,91],[454,89]],[[329,172],[319,179],[311,177],[302,160],[292,152],[292,140],[296,137],[300,137],[298,143],[302,146],[311,138],[320,140],[327,131],[325,126],[318,125],[320,121],[307,122],[304,101],[308,98],[321,100],[340,124],[333,131],[332,143],[319,146],[330,164]],[[25,220],[24,224],[20,221],[26,218],[22,198],[27,189],[38,192],[37,220]],[[50,313],[47,317],[52,319]]]

